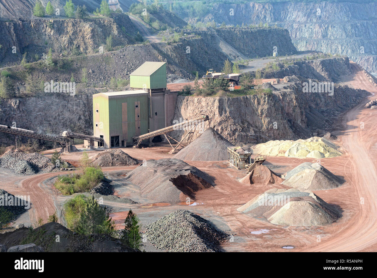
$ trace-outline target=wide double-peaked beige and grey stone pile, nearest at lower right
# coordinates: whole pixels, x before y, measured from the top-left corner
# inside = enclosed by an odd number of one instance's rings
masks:
[[[284,226],[328,225],[340,212],[309,190],[270,189],[237,209],[239,212],[263,216],[268,222]]]

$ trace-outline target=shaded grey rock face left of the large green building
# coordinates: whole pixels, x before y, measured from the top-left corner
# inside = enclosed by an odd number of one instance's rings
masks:
[[[46,134],[58,134],[64,130],[93,134],[93,98],[95,90],[87,93],[55,93],[40,97],[22,99],[2,99],[0,103],[0,123],[12,125]],[[25,142],[27,137],[20,137]],[[0,145],[14,143],[14,135],[0,134]]]

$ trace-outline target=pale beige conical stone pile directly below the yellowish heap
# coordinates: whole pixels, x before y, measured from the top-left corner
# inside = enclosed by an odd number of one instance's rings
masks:
[[[284,185],[308,190],[326,190],[342,185],[342,180],[319,163],[304,162],[288,171]]]

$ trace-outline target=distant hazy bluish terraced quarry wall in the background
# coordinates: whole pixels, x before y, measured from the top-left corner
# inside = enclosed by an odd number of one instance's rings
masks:
[[[230,9],[233,9],[231,15]],[[346,55],[377,71],[377,3],[274,2],[214,4],[204,22],[240,26],[277,24],[288,29],[297,50]]]

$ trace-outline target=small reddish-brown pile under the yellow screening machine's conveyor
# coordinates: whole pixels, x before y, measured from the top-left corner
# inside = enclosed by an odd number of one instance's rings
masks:
[[[258,165],[253,171],[240,180],[243,184],[281,184],[284,179],[280,178],[265,165]]]

